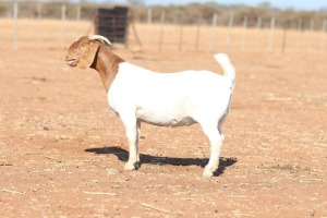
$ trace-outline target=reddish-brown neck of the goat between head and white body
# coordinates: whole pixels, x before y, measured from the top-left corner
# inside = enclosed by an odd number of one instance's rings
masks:
[[[108,48],[105,46],[99,47],[95,61],[90,68],[99,72],[107,93],[118,73],[119,63],[121,62],[124,61],[112,53]]]

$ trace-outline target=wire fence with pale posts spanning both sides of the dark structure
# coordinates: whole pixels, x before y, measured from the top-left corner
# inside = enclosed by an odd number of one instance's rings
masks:
[[[81,35],[93,34],[90,21],[81,21],[81,5],[76,4],[75,15],[70,14],[66,19],[66,8],[61,3],[57,8],[60,17],[57,21],[45,20],[41,16],[41,8],[37,8],[37,19],[26,20],[19,16],[19,4],[13,3],[10,19],[2,19],[1,27],[4,33],[1,37],[10,39],[12,47],[40,48],[48,47],[48,40],[52,40],[55,47],[65,48],[66,44],[75,40]],[[247,17],[243,17],[242,26],[234,26],[234,15],[230,14],[227,23],[219,23],[219,16],[213,15],[211,25],[205,24],[184,24],[182,20],[175,20],[173,24],[166,23],[165,10],[160,12],[160,21],[153,21],[153,11],[147,12],[147,22],[135,24],[135,29],[143,44],[143,49],[148,50],[195,50],[195,51],[308,51],[326,52],[327,48],[327,21],[322,22],[319,31],[315,23],[310,23],[310,28],[304,29],[303,22],[298,22],[298,27],[289,28],[284,24],[283,28],[277,28],[278,22],[274,16],[270,17],[269,27],[262,26],[262,19],[257,17],[255,27],[249,27]],[[92,17],[89,17],[92,20]],[[240,17],[238,17],[240,19]],[[28,24],[27,24],[28,23]],[[56,23],[56,24],[55,24]],[[23,25],[25,24],[25,26]],[[29,25],[26,28],[26,25]],[[7,26],[7,27],[5,27]],[[50,27],[51,26],[51,27]],[[3,28],[4,27],[4,28]],[[133,26],[134,27],[134,26]],[[135,29],[129,31],[129,45],[136,46]],[[49,33],[50,31],[50,33]],[[1,31],[0,31],[1,32]],[[34,41],[26,41],[23,38],[28,34],[37,33]],[[47,41],[46,41],[47,40]],[[9,44],[10,45],[10,44]],[[138,45],[138,44],[137,44]]]

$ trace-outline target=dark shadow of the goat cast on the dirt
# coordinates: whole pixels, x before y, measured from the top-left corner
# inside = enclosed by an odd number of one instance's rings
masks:
[[[129,159],[129,152],[118,147],[97,147],[97,148],[87,148],[85,149],[87,153],[94,153],[97,155],[110,154],[116,155],[117,158],[121,161],[128,161]],[[204,168],[209,159],[208,158],[175,158],[175,157],[156,157],[152,155],[143,155],[140,154],[141,162],[143,164],[150,164],[150,165],[172,165],[172,166],[199,166]],[[238,161],[237,158],[223,158],[220,157],[219,159],[219,168],[214,172],[215,177],[219,177],[223,173],[226,168],[234,165]]]

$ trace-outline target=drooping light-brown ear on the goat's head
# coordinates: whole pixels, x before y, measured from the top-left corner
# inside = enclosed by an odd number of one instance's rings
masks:
[[[89,44],[85,47],[81,48],[81,57],[77,62],[77,66],[80,69],[87,69],[94,62],[94,59],[97,55],[99,49],[99,44],[96,41],[90,40]]]

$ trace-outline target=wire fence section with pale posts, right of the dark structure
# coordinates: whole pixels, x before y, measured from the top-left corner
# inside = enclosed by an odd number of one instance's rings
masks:
[[[158,50],[240,50],[240,51],[319,51],[325,52],[327,20],[320,31],[312,21],[310,28],[304,29],[303,22],[299,21],[295,29],[287,23],[283,28],[276,28],[276,19],[270,17],[269,26],[262,26],[262,19],[257,17],[255,27],[247,26],[247,17],[243,17],[242,26],[234,26],[234,15],[226,24],[219,23],[218,14],[213,15],[211,25],[184,25],[183,21],[167,24],[165,11],[161,11],[160,22],[152,21],[152,10],[148,10],[147,24],[142,26],[142,38],[145,45],[157,45]],[[219,24],[218,24],[219,23]],[[191,35],[191,36],[190,36]],[[168,46],[167,46],[168,43]],[[146,47],[146,46],[145,46]]]

